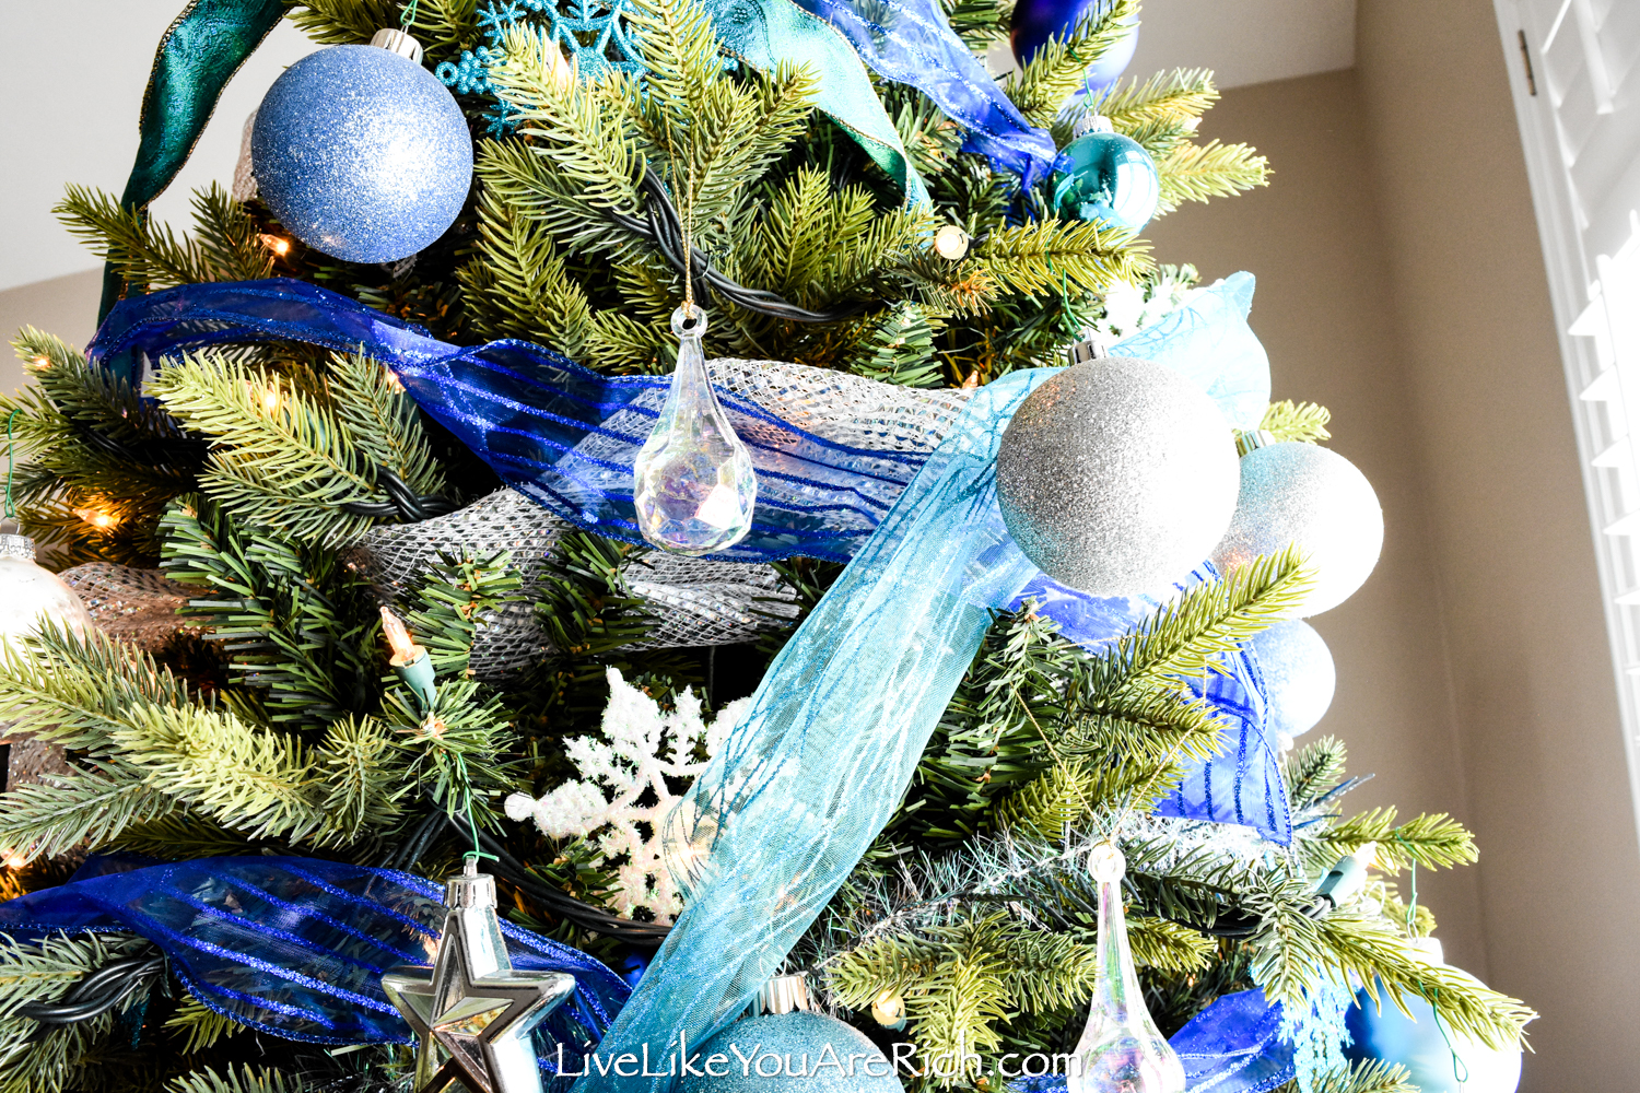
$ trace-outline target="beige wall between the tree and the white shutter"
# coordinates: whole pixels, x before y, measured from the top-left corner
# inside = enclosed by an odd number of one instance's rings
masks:
[[[1356,69],[1227,92],[1204,133],[1268,190],[1151,229],[1258,274],[1278,398],[1335,413],[1384,557],[1315,619],[1351,808],[1450,811],[1481,865],[1419,878],[1448,959],[1519,995],[1522,1090],[1640,1085],[1640,847],[1566,387],[1486,0],[1361,0]]]

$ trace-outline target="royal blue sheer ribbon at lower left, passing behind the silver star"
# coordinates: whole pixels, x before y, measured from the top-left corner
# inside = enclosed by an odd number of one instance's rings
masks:
[[[253,1029],[315,1044],[410,1042],[380,975],[395,964],[433,964],[444,924],[438,885],[303,857],[93,873],[0,905],[0,931],[18,939],[130,931],[164,950],[189,993]],[[630,988],[584,952],[505,921],[502,934],[513,967],[576,977],[574,998],[538,1034],[564,1045],[569,1068],[571,1054],[602,1039]],[[546,1055],[556,1060],[556,1047]]]

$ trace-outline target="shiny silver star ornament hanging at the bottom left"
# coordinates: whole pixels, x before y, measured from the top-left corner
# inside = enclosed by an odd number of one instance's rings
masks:
[[[530,1034],[576,991],[563,972],[515,972],[495,918],[495,878],[469,855],[444,882],[444,932],[431,972],[395,967],[382,990],[417,1034],[415,1090],[541,1093]]]

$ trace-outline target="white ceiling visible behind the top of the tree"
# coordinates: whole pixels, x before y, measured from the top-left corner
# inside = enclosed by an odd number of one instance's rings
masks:
[[[118,195],[136,156],[136,115],[154,48],[182,0],[3,0],[0,41],[28,43],[0,66],[0,292],[95,269],[51,216],[69,182]],[[1150,0],[1128,72],[1215,69],[1222,87],[1355,62],[1355,0]],[[49,43],[59,43],[51,46]],[[313,46],[280,25],[244,64],[154,216],[182,228],[189,193],[228,185],[246,115]]]

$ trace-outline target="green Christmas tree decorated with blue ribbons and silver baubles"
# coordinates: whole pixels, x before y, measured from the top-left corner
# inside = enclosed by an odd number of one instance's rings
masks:
[[[21,331],[0,403],[77,592],[7,539],[0,1090],[712,1088],[654,1060],[782,972],[894,1064],[817,1090],[1512,1090],[1533,1014],[1417,900],[1469,834],[1350,814],[1345,744],[1291,741],[1330,693],[1294,619],[1364,580],[1376,500],[1269,403],[1250,279],[1148,256],[1268,167],[1194,139],[1210,72],[1105,72],[1137,13],[179,16],[131,188],[59,208],[107,323]],[[358,51],[153,223],[280,16]],[[1360,503],[1258,508],[1305,488]],[[454,1044],[512,1016],[435,1034],[384,967],[435,960],[472,860],[513,968],[576,988],[508,1059]],[[786,1008],[784,1067],[843,1050]]]

